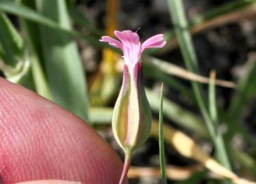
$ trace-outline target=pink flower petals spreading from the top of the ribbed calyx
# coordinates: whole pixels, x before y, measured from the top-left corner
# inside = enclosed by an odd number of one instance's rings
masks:
[[[128,67],[140,62],[142,52],[146,48],[162,48],[166,44],[163,34],[154,35],[143,44],[140,44],[139,35],[133,31],[114,31],[114,34],[120,41],[110,36],[103,36],[100,41],[108,42],[111,46],[120,48],[123,51],[125,65]]]

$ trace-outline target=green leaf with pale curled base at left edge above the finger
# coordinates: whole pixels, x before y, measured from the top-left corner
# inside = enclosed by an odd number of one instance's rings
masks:
[[[21,35],[3,12],[0,25],[0,70],[11,82],[34,90],[30,61]]]

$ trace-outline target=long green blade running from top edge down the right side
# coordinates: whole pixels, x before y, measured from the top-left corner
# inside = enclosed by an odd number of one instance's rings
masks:
[[[192,44],[192,38],[189,31],[188,20],[185,16],[185,10],[183,7],[182,1],[177,0],[168,0],[170,15],[172,18],[173,25],[175,26],[175,33],[177,35],[177,39],[179,41],[179,46],[181,48],[181,53],[183,55],[183,59],[185,61],[185,65],[191,72],[198,74],[198,62],[196,58],[196,53],[194,50],[194,46]],[[209,117],[209,113],[207,111],[207,104],[205,104],[205,100],[203,98],[203,93],[201,90],[201,86],[192,81],[192,87],[194,90],[194,94],[198,103],[198,106],[203,114],[203,118],[205,119],[205,123],[207,125],[207,129],[209,130],[209,134],[212,137],[214,142],[214,146],[216,147],[216,151],[220,151],[220,153],[224,153],[225,147],[223,144],[220,144],[218,138],[218,127],[214,125],[211,117]],[[227,164],[229,159],[227,155],[222,155],[225,157],[227,162],[223,162],[219,160],[221,164],[229,168],[230,164]],[[225,165],[227,164],[227,165]]]

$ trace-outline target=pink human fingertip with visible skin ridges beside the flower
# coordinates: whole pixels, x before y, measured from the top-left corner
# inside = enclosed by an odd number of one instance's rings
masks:
[[[115,184],[122,167],[116,152],[84,121],[0,78],[0,183]],[[38,181],[46,179],[51,181]]]

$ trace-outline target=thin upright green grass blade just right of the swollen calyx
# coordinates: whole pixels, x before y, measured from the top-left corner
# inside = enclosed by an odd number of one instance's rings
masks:
[[[159,108],[159,159],[162,173],[162,183],[166,184],[166,159],[164,155],[164,130],[163,130],[163,99],[164,84],[162,83],[160,92],[160,108]]]

